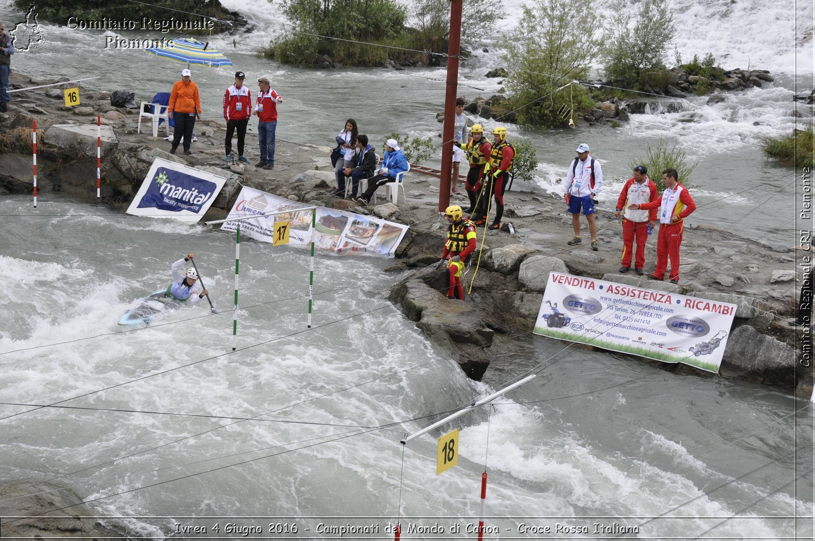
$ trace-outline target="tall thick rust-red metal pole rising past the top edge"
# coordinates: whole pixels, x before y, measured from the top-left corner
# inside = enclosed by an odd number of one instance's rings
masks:
[[[456,125],[456,90],[458,57],[461,51],[461,2],[450,2],[450,44],[447,46],[447,90],[444,94],[444,127],[442,130],[442,178],[438,189],[438,212],[450,204],[450,178],[453,169],[453,130]]]

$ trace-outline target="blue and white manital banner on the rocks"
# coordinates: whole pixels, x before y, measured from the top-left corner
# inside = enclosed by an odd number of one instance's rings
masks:
[[[156,158],[127,213],[197,222],[226,182],[218,175]]]

